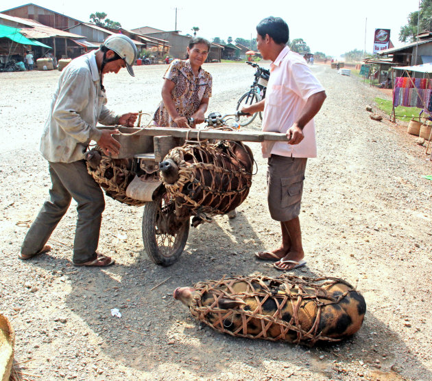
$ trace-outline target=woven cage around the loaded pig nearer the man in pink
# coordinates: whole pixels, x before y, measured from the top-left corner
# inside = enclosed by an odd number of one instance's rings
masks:
[[[243,203],[252,185],[252,164],[246,168],[239,161],[235,154],[239,148],[247,152],[242,143],[228,141],[186,143],[169,151],[165,160],[178,165],[179,178],[164,185],[176,207],[191,215],[215,216]]]

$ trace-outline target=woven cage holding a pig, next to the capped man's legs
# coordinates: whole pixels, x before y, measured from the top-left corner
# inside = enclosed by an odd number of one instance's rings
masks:
[[[132,160],[112,159],[106,156],[99,147],[96,147],[95,150],[101,155],[101,161],[96,169],[91,168],[91,165],[87,163],[87,171],[104,189],[106,195],[126,205],[136,207],[144,205],[145,201],[126,196],[126,188],[135,176],[132,170]]]

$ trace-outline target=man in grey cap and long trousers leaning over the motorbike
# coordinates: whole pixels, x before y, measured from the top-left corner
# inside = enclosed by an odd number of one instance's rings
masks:
[[[51,250],[46,243],[73,198],[78,213],[73,264],[102,267],[114,263],[96,253],[105,201],[101,188],[87,172],[84,153],[92,140],[106,154],[119,153],[120,144],[111,136],[118,130],[98,130],[98,122],[105,126],[134,125],[136,113],[115,115],[106,107],[102,81],[106,73],[118,73],[123,67],[134,76],[136,55],[130,38],[113,34],[97,51],[75,58],[62,71],[40,141],[52,186],[25,236],[19,258],[30,259]]]

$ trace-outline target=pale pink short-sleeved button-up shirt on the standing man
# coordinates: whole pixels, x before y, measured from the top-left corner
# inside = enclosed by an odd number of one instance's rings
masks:
[[[287,132],[298,120],[307,99],[324,87],[313,76],[300,54],[284,47],[270,65],[270,78],[265,94],[263,131]],[[296,145],[285,141],[265,141],[263,157],[278,154],[287,157],[316,157],[315,125],[313,119],[303,128],[304,139]]]

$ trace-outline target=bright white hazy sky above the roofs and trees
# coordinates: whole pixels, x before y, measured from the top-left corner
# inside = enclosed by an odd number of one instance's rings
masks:
[[[197,36],[226,39],[231,36],[256,38],[256,24],[267,16],[282,17],[289,26],[289,38],[303,38],[311,51],[339,57],[353,49],[372,52],[374,30],[391,30],[390,39],[398,47],[400,27],[408,14],[418,10],[418,0],[163,0],[163,1],[84,1],[34,0],[49,10],[88,22],[94,12],[105,12],[125,29],[151,26]],[[2,1],[0,12],[26,1]]]

